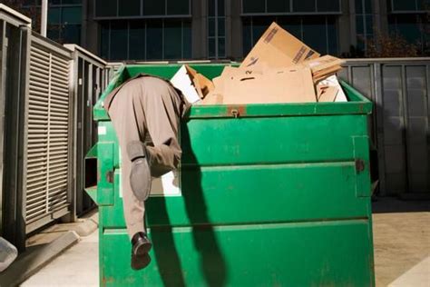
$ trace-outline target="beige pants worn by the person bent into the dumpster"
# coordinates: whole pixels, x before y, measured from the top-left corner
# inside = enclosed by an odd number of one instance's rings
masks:
[[[170,84],[149,76],[124,84],[112,99],[109,115],[120,143],[122,200],[130,238],[145,230],[145,207],[132,193],[132,162],[127,154],[127,144],[141,141],[147,145],[152,176],[174,170],[181,160],[178,142],[181,104],[181,95]]]

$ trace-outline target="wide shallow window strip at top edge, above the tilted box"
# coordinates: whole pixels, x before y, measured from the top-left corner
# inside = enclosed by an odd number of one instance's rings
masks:
[[[340,0],[242,0],[243,15],[339,14]]]

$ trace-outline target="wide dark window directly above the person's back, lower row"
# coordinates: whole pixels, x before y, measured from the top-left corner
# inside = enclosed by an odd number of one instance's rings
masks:
[[[191,58],[191,22],[185,19],[103,21],[100,53],[123,60]]]

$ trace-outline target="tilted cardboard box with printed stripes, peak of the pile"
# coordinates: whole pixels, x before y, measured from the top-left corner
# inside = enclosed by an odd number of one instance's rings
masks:
[[[241,69],[262,70],[285,68],[293,64],[318,58],[319,54],[289,34],[276,23],[259,38],[242,64]]]

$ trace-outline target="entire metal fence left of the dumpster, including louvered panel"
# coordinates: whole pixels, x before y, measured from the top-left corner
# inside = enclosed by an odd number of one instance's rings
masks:
[[[0,235],[20,250],[26,234],[95,206],[83,193],[83,157],[97,141],[105,66],[32,33],[30,19],[0,5]]]

